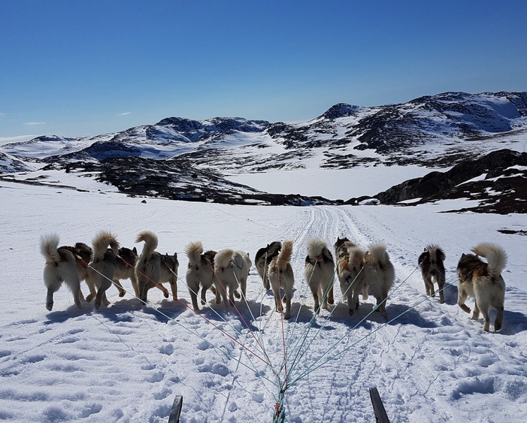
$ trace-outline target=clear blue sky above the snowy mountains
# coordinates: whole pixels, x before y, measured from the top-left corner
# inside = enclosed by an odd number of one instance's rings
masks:
[[[2,0],[0,141],[526,91],[526,22],[525,0]]]

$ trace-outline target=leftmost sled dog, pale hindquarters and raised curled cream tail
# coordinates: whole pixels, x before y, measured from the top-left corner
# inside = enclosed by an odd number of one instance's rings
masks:
[[[80,309],[80,300],[84,300],[80,290],[80,281],[87,280],[87,263],[90,262],[92,249],[83,243],[75,247],[59,247],[59,235],[52,233],[40,237],[40,251],[46,259],[44,265],[44,286],[47,288],[46,308],[53,309],[53,294],[62,283],[71,290],[73,301]]]

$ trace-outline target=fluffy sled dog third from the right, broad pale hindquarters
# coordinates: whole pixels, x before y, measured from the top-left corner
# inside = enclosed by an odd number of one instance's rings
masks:
[[[365,286],[368,286],[370,293],[377,300],[377,311],[387,320],[386,300],[394,283],[395,269],[386,247],[382,244],[370,245],[363,258],[363,267],[359,278],[363,278]]]

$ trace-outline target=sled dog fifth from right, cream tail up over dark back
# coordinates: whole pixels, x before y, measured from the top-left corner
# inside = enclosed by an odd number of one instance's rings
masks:
[[[328,303],[333,304],[334,270],[333,256],[325,241],[318,238],[310,240],[308,255],[305,257],[304,277],[313,294],[315,312],[320,308],[320,302],[325,309]]]

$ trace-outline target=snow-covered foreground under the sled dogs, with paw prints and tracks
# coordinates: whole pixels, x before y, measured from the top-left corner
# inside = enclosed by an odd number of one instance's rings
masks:
[[[272,422],[274,372],[284,381],[285,343],[291,382],[284,394],[286,422],[373,422],[372,386],[392,423],[525,422],[526,239],[498,232],[526,231],[525,215],[440,213],[461,208],[451,202],[302,208],[153,199],[144,204],[86,188],[1,183],[0,419],[166,422],[174,396],[182,395],[183,423]],[[141,307],[133,295],[119,298],[111,287],[109,307],[95,311],[83,303],[79,311],[63,287],[47,312],[40,235],[56,232],[61,245],[72,245],[90,243],[101,229],[116,233],[126,247],[135,245],[140,231],[155,231],[160,252],[178,252],[179,300],[150,290],[148,307]],[[370,314],[370,296],[353,317],[339,304],[329,319],[322,310],[308,329],[313,299],[303,280],[306,245],[313,237],[333,245],[339,235],[363,246],[387,245],[396,269],[388,324],[379,313]],[[296,292],[284,334],[254,267],[248,305],[236,303],[241,315],[215,305],[212,294],[202,314],[188,308],[183,250],[190,241],[201,240],[205,249],[245,250],[254,258],[267,243],[288,239]],[[497,333],[483,332],[483,321],[471,321],[456,305],[457,261],[482,241],[502,245],[509,255],[504,326]],[[454,284],[442,305],[437,297],[425,297],[417,269],[428,243],[444,248],[447,282]],[[123,286],[131,290],[130,281]],[[335,297],[340,298],[338,284]]]

